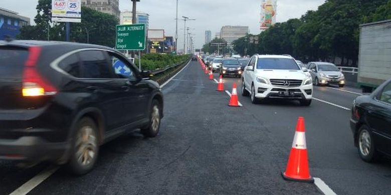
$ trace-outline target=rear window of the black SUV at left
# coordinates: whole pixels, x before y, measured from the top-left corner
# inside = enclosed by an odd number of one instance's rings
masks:
[[[0,47],[0,78],[21,78],[29,51],[19,47]]]

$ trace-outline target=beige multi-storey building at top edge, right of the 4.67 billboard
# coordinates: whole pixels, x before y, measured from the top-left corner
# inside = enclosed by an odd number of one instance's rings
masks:
[[[82,0],[82,5],[97,11],[120,17],[119,0]]]

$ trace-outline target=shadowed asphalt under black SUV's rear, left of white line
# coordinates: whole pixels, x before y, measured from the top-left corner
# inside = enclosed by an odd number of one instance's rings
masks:
[[[0,194],[10,194],[48,166],[44,162],[30,168],[20,168],[16,161],[0,160]]]

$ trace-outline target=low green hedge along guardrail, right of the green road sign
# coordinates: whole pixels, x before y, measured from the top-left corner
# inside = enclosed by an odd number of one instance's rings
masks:
[[[190,55],[146,53],[141,55],[141,68],[155,70],[188,59]]]

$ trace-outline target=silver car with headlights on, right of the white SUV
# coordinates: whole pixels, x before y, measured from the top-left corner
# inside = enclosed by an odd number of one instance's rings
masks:
[[[311,73],[313,83],[317,86],[327,84],[338,84],[345,86],[345,76],[336,65],[328,62],[309,62],[308,70]]]

